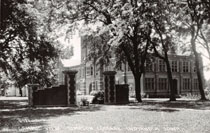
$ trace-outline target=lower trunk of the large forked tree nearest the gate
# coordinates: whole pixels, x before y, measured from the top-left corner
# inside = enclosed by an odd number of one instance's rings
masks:
[[[141,83],[140,83],[140,78],[141,78],[140,74],[134,75],[136,100],[138,102],[142,102],[142,100],[141,100]]]

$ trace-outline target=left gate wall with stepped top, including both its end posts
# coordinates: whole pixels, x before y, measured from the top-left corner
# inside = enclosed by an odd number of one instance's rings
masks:
[[[40,89],[39,85],[28,85],[29,106],[76,106],[77,71],[64,71],[65,85]]]

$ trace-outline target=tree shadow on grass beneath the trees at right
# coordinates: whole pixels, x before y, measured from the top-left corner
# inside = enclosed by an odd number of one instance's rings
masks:
[[[157,112],[176,112],[182,109],[193,110],[210,110],[210,101],[189,101],[189,100],[177,100],[177,101],[159,101],[159,100],[145,100],[142,103],[130,103],[129,106],[134,106],[131,109],[143,109],[146,111]]]

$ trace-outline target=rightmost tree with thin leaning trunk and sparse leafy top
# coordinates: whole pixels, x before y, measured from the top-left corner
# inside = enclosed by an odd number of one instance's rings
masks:
[[[190,45],[192,52],[195,56],[195,66],[198,77],[199,90],[201,94],[201,100],[206,100],[204,88],[203,88],[203,78],[201,73],[201,64],[199,62],[200,57],[197,52],[197,43],[196,41],[199,38],[199,32],[202,33],[202,26],[206,18],[206,13],[203,12],[203,6],[201,1],[187,0],[186,2],[177,3],[179,8],[182,9],[182,12],[178,13],[177,23],[178,31],[181,35],[190,36]]]

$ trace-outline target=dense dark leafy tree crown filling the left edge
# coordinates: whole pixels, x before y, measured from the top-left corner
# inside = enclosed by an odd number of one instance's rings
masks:
[[[46,68],[58,56],[52,40],[37,32],[38,20],[28,12],[29,8],[26,0],[1,1],[0,69],[15,80],[17,86],[35,83],[29,81],[30,76],[39,81],[47,79],[51,72]],[[42,71],[37,71],[35,67],[42,68]],[[34,72],[30,74],[30,70]],[[43,71],[45,75],[37,76]]]

